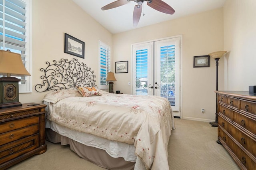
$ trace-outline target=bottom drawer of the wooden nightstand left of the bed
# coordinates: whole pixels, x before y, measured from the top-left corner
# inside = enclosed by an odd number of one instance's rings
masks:
[[[0,146],[0,164],[16,158],[39,146],[38,134]]]

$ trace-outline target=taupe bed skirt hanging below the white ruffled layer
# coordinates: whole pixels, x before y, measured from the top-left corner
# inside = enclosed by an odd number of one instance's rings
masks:
[[[50,128],[46,128],[46,140],[53,143],[60,142],[61,145],[69,144],[70,149],[78,154],[80,158],[88,160],[102,168],[110,170],[134,170],[135,162],[128,162],[124,158],[113,158],[105,150],[86,146],[66,136],[62,136]]]

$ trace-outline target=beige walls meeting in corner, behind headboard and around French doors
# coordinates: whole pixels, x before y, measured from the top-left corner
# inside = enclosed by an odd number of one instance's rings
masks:
[[[223,9],[186,16],[160,24],[112,35],[72,0],[33,0],[32,4],[32,93],[20,94],[20,102],[42,102],[47,93],[34,90],[42,83],[40,68],[46,61],[72,59],[64,53],[64,33],[85,42],[85,59],[76,57],[95,71],[98,78],[98,40],[112,47],[112,71],[115,61],[129,61],[129,73],[115,74],[114,90],[131,94],[132,43],[165,37],[183,36],[182,116],[185,119],[212,121],[215,119],[216,67],[193,68],[193,56],[223,50]],[[219,89],[223,89],[223,59],[219,66]],[[222,73],[222,74],[221,74]],[[98,85],[98,79],[96,79]],[[201,113],[201,108],[205,113]]]

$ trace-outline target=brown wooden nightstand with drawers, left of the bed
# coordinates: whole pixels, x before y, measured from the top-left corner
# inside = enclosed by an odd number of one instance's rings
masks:
[[[26,103],[0,109],[0,170],[46,151],[45,107]]]

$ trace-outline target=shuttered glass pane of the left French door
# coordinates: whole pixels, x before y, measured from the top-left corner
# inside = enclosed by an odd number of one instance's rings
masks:
[[[136,95],[148,95],[148,49],[136,50]]]

